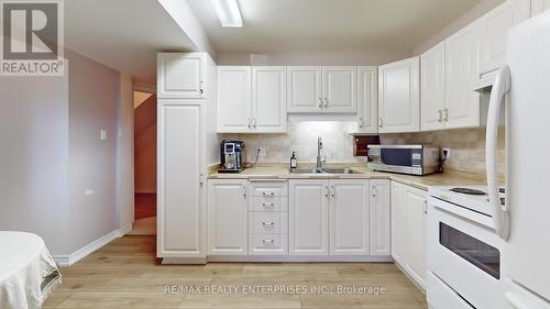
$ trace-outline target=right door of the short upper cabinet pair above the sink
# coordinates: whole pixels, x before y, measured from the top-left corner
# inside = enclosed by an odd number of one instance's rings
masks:
[[[323,112],[358,112],[356,75],[354,66],[322,67]]]

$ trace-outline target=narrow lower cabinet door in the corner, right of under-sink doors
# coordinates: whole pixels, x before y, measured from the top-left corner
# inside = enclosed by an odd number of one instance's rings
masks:
[[[391,252],[389,180],[371,180],[371,255],[387,255]]]

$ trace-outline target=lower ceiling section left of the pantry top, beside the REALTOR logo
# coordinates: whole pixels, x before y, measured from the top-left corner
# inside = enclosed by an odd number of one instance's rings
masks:
[[[156,0],[65,1],[68,48],[156,85],[156,53],[194,44]]]

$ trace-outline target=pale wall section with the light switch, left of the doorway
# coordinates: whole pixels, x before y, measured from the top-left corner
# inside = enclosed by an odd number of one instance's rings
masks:
[[[116,197],[119,74],[76,53],[69,85],[69,233],[72,252],[118,229]],[[100,130],[108,132],[100,141]],[[94,194],[86,196],[86,190]]]

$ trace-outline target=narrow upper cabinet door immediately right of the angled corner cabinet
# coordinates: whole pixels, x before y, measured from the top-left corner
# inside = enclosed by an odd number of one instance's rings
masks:
[[[444,128],[446,47],[440,43],[420,56],[422,131]]]

